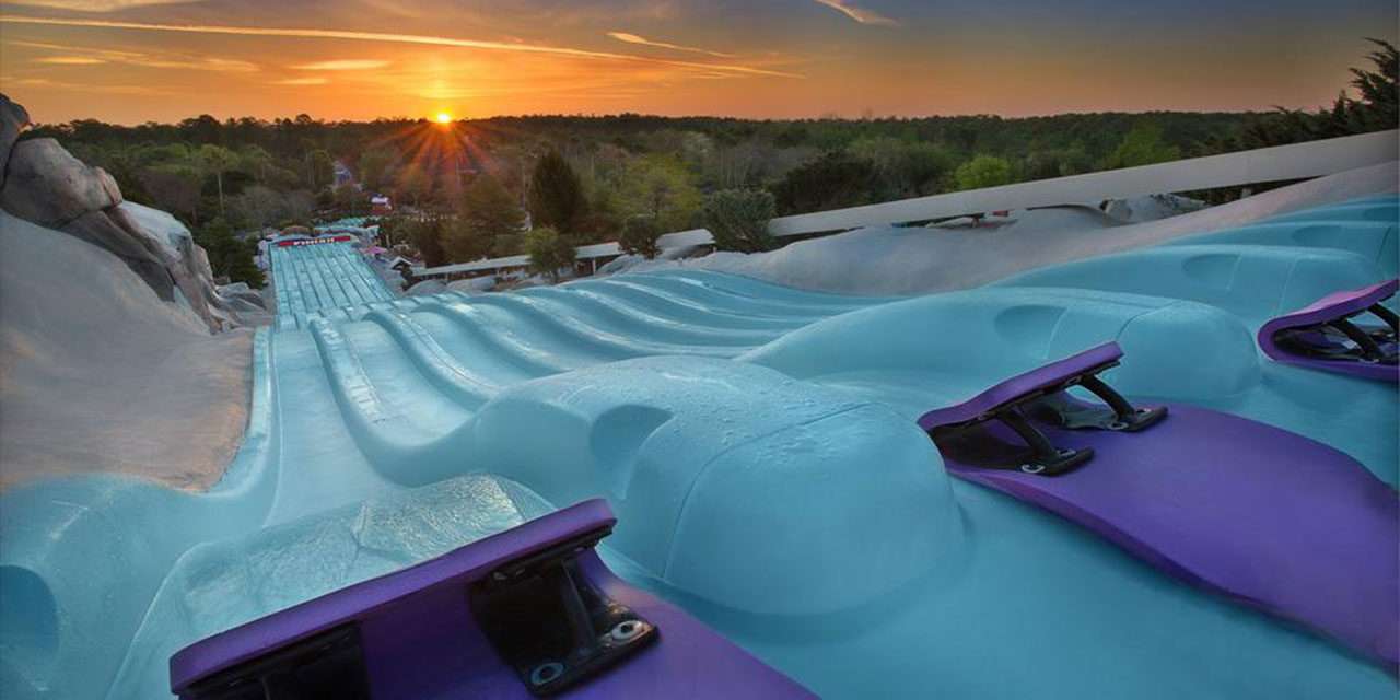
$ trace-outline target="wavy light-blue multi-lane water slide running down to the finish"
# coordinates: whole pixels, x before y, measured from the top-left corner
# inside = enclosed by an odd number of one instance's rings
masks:
[[[603,497],[613,571],[823,697],[1393,697],[1385,640],[956,479],[916,420],[1116,342],[1103,377],[1133,400],[1330,445],[1393,507],[1393,385],[1273,363],[1254,335],[1393,277],[1394,218],[1354,202],[907,300],[700,272],[393,298],[349,248],[279,251],[218,487],[3,496],[0,694],[160,696],[185,644]]]

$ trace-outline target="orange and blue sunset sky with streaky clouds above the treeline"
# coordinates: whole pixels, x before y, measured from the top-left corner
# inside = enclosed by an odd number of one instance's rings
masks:
[[[0,0],[39,122],[1316,106],[1394,0]]]

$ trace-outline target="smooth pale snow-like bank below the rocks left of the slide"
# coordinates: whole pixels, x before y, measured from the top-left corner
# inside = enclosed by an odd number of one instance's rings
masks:
[[[252,332],[210,336],[116,256],[4,211],[0,246],[0,487],[214,483],[248,419]]]

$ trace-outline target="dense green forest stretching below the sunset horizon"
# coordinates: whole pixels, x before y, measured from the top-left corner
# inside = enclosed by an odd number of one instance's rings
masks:
[[[111,172],[127,199],[175,213],[206,246],[227,249],[230,231],[365,214],[370,195],[389,195],[398,214],[386,234],[438,265],[612,241],[624,231],[654,239],[703,224],[707,199],[729,190],[762,190],[783,216],[1394,129],[1396,49],[1373,43],[1350,91],[1316,112],[861,120],[624,113],[445,125],[202,115],[174,125],[41,125],[27,137],[57,137]],[[337,164],[350,183],[337,186]],[[725,202],[741,200],[767,207],[752,197]],[[540,225],[557,242],[528,241],[524,231]],[[637,249],[645,248],[643,241]]]

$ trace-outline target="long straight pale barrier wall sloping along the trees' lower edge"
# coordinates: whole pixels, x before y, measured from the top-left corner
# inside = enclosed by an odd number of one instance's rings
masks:
[[[1165,195],[1214,188],[1233,188],[1260,182],[1317,178],[1337,172],[1394,161],[1400,151],[1400,132],[1376,132],[1320,141],[1274,146],[1253,151],[1186,158],[1135,168],[1071,175],[1068,178],[1021,182],[1000,188],[949,192],[927,197],[902,199],[882,204],[836,209],[812,214],[774,218],[769,231],[774,237],[794,237],[848,231],[867,225],[932,221],[959,216],[1012,209],[1078,204],[1140,195]],[[662,235],[661,249],[708,245],[714,238],[704,228]],[[578,259],[589,260],[622,255],[616,242],[582,245]],[[447,274],[501,270],[529,263],[526,255],[416,267],[413,276],[431,279]]]

